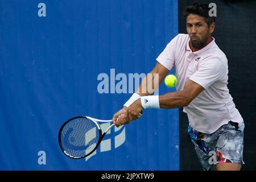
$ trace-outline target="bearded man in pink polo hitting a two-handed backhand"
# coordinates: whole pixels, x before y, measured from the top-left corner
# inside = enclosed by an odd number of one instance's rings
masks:
[[[187,7],[188,34],[172,39],[150,72],[159,75],[159,85],[174,66],[177,92],[163,96],[149,96],[148,90],[143,93],[148,79],[155,81],[147,76],[123,109],[114,114],[113,122],[117,127],[127,124],[147,108],[184,107],[188,133],[203,169],[240,170],[244,123],[229,94],[228,60],[214,42],[215,19],[208,12],[206,4]]]

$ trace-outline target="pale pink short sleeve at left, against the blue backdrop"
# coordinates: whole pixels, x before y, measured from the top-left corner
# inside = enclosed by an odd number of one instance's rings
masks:
[[[174,39],[171,40],[170,43],[167,44],[166,48],[163,50],[162,53],[156,58],[156,60],[162,64],[164,67],[166,67],[168,70],[171,70],[172,67],[174,66],[174,61],[175,61],[175,47],[176,47],[176,42],[177,42],[177,36],[175,36]]]

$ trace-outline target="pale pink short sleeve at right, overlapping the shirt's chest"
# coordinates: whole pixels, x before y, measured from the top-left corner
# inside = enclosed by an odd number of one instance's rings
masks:
[[[204,60],[199,64],[197,71],[189,78],[207,89],[214,82],[220,80],[226,74],[225,64],[218,58]]]

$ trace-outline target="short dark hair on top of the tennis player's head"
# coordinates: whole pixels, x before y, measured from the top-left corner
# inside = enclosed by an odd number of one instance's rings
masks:
[[[208,24],[208,27],[209,27],[210,24],[215,22],[215,17],[209,16],[209,10],[210,10],[210,8],[207,3],[195,2],[185,8],[185,15],[186,15],[186,17],[189,14],[196,14],[199,16],[203,16],[205,22]]]

